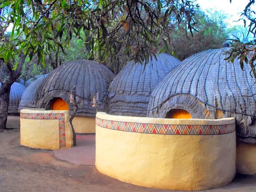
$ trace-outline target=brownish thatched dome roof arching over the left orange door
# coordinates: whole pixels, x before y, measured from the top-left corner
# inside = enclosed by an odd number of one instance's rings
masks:
[[[43,79],[38,88],[38,105],[49,109],[54,97],[61,97],[69,102],[70,91],[76,85],[75,98],[77,115],[95,116],[96,108],[92,107],[93,97],[98,94],[97,110],[107,111],[107,87],[114,74],[104,65],[90,60],[76,60],[59,66]]]

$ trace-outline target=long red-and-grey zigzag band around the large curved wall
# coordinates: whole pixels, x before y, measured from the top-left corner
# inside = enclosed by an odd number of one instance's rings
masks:
[[[220,135],[235,131],[235,123],[225,125],[173,125],[112,121],[97,117],[96,125],[127,132],[167,135]]]

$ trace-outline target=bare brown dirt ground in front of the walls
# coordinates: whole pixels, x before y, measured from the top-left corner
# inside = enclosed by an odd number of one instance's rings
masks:
[[[153,192],[166,191],[120,182],[100,174],[95,166],[76,165],[55,158],[52,151],[20,146],[17,117],[0,132],[0,192]],[[16,127],[16,128],[15,128]],[[172,181],[173,182],[173,181]],[[256,192],[256,177],[238,175],[229,185],[207,192]]]

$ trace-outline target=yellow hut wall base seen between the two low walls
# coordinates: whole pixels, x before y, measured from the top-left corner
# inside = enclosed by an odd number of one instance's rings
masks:
[[[76,133],[95,133],[95,117],[75,116],[72,124]]]

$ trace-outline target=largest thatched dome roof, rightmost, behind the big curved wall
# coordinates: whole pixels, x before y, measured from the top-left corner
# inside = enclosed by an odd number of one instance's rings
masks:
[[[250,66],[228,63],[229,48],[207,50],[182,61],[153,91],[149,117],[165,117],[175,108],[192,118],[235,117],[241,141],[256,143],[256,84]]]

